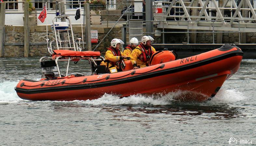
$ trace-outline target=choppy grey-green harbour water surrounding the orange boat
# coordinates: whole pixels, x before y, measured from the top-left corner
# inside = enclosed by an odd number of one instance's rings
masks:
[[[89,74],[89,67],[72,68]],[[39,58],[0,58],[0,145],[243,145],[256,143],[256,59],[244,59],[211,100],[105,94],[91,101],[27,101],[14,87],[40,79]],[[252,144],[251,144],[252,142]]]

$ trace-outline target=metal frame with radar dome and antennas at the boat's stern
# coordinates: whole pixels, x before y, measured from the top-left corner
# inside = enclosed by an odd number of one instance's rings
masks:
[[[67,23],[68,24],[68,29],[59,29],[59,28],[56,28],[57,25],[59,25],[59,23],[61,22],[54,22],[54,20],[57,20],[57,19],[64,19],[64,20],[68,20],[68,23],[65,21],[63,23]],[[58,24],[56,24],[58,23]],[[55,40],[52,40],[50,43],[49,43],[49,46],[48,47],[48,39],[47,39],[47,50],[49,52],[50,55],[53,55],[55,52],[54,50],[60,50],[60,49],[64,49],[64,50],[74,50],[74,51],[82,51],[84,48],[83,46],[81,47],[80,46],[80,40],[81,38],[78,38],[78,41],[79,41],[79,46],[78,44],[74,41],[74,34],[73,34],[73,29],[72,29],[72,24],[70,22],[70,19],[69,19],[69,16],[57,16],[57,17],[54,17],[53,20],[52,20],[52,25],[51,25],[52,29],[53,29],[53,32],[54,32],[54,35],[55,35]],[[60,34],[61,33],[61,34]],[[64,34],[65,33],[65,34]],[[82,32],[83,33],[83,32]],[[61,40],[61,35],[67,35],[67,38],[68,40]],[[71,38],[70,38],[71,37]],[[82,35],[82,41],[83,41],[83,35]],[[56,44],[56,49],[53,49],[53,43],[55,42]],[[67,43],[67,47],[65,47]],[[49,61],[49,60],[54,60],[55,61],[55,64],[54,66],[52,67],[45,67],[43,64],[45,61]],[[91,66],[91,75],[94,75],[97,71],[97,61],[105,61],[105,58],[98,55],[98,56],[91,56],[91,55],[88,55],[88,56],[56,56],[56,57],[41,57],[40,58],[40,64],[41,64],[41,67],[42,67],[42,73],[43,73],[43,77],[45,77],[44,75],[46,73],[49,73],[51,72],[50,69],[46,69],[46,68],[55,68],[57,69],[57,72],[58,72],[58,76],[61,77],[61,70],[60,70],[60,67],[59,67],[59,61],[67,61],[67,68],[66,68],[66,75],[68,75],[68,71],[69,71],[69,65],[70,65],[70,61],[79,61],[79,60],[88,60],[90,66]],[[45,70],[43,71],[43,68],[45,68]],[[94,70],[94,68],[96,68],[96,70]],[[46,71],[47,70],[47,71]],[[56,71],[56,70],[55,70]],[[64,75],[63,75],[64,76]]]

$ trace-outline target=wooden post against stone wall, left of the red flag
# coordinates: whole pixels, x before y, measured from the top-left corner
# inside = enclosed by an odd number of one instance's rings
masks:
[[[24,57],[29,56],[29,26],[28,26],[28,18],[29,18],[29,3],[24,3]]]

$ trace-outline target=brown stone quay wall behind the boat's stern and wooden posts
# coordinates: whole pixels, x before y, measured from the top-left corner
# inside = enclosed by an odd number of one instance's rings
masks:
[[[49,43],[55,40],[54,33],[51,27],[48,26],[48,39]],[[74,33],[74,40],[78,43],[77,38],[82,38],[81,26],[72,26]],[[98,31],[98,43],[108,33],[110,27],[93,26],[91,30]],[[85,42],[85,27],[83,27],[83,35]],[[104,41],[100,44],[96,51],[105,52],[106,48],[110,46],[110,42],[114,38],[121,39],[122,25],[115,26],[112,31],[106,36]],[[66,37],[67,38],[67,37]],[[65,38],[65,39],[66,39]],[[46,26],[30,26],[29,27],[29,56],[44,56],[49,55],[47,51],[47,31]],[[85,42],[86,43],[86,42]],[[98,43],[92,43],[92,50]],[[82,45],[82,41],[80,43]],[[55,45],[53,45],[54,47]],[[86,46],[86,45],[85,45]],[[84,50],[86,51],[86,50]],[[24,56],[24,27],[23,26],[5,26],[5,39],[4,39],[4,57],[23,57]]]

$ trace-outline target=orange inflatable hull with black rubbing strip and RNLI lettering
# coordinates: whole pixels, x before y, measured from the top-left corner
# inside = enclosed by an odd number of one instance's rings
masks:
[[[98,99],[105,93],[133,94],[181,92],[177,100],[206,101],[239,68],[243,52],[238,47],[215,49],[200,55],[112,74],[21,80],[15,87],[26,100],[73,101]]]

